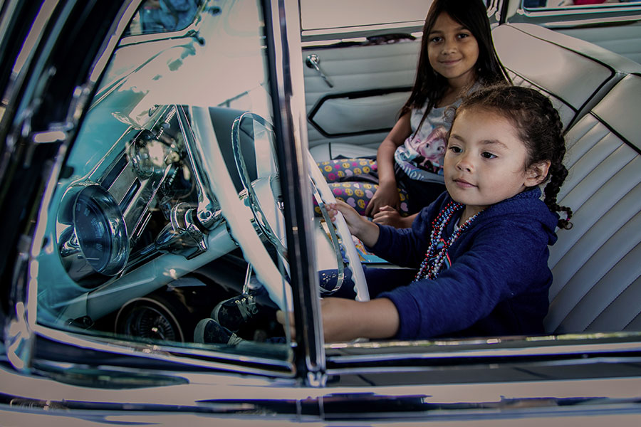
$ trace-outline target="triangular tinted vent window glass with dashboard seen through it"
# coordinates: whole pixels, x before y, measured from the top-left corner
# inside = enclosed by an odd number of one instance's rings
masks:
[[[291,290],[262,12],[199,3],[144,2],[127,34],[181,26],[170,5],[189,5],[197,33],[120,43],[110,59],[48,210],[38,323],[283,354],[275,312]]]

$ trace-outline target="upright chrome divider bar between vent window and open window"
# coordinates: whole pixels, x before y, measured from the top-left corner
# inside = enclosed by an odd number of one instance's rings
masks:
[[[285,198],[288,253],[295,295],[298,367],[311,386],[325,384],[325,352],[320,321],[313,242],[313,210],[307,170],[307,128],[298,0],[265,4],[266,42],[272,56],[272,99],[281,184]],[[270,36],[273,36],[270,37]]]

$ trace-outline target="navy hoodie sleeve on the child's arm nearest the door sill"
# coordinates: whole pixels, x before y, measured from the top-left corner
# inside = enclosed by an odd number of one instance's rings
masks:
[[[471,230],[470,230],[471,231]],[[547,236],[527,224],[487,223],[450,248],[452,266],[385,292],[397,307],[397,338],[426,339],[465,330],[524,290],[549,286]]]

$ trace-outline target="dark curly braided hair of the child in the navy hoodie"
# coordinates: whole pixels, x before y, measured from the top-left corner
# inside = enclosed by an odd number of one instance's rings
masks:
[[[568,169],[563,165],[566,155],[563,123],[549,98],[531,88],[494,85],[466,97],[456,114],[478,107],[494,111],[514,124],[528,152],[526,169],[541,162],[550,162],[548,174],[543,179],[543,182],[548,181],[543,201],[551,211],[565,212],[566,218],[558,220],[559,228],[572,228],[572,209],[559,206],[556,200],[568,176]]]

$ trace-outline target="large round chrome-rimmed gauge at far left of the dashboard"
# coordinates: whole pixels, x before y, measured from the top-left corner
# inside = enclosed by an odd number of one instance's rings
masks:
[[[73,228],[85,260],[98,273],[120,273],[129,256],[125,219],[113,196],[99,185],[80,190],[73,203]]]

